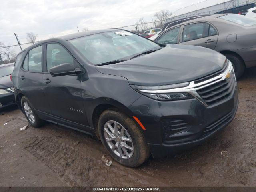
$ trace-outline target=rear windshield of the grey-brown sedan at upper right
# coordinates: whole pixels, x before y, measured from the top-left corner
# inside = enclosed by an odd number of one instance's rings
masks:
[[[238,14],[228,14],[228,15],[221,16],[219,18],[236,23],[236,24],[240,24],[246,27],[256,24],[255,18],[250,18],[244,15],[238,15]]]

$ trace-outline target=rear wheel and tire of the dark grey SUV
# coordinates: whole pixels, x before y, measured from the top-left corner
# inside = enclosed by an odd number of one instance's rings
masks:
[[[28,122],[34,127],[34,128],[39,128],[40,126],[42,126],[42,120],[40,118],[38,118],[36,111],[34,110],[34,108],[32,107],[32,105],[30,104],[30,102],[28,101],[28,98],[26,98],[25,96],[23,96],[20,100],[21,103],[21,107],[23,110],[23,113],[26,117],[26,119],[28,120]],[[25,107],[26,106],[26,107]],[[29,108],[30,109],[29,109]],[[31,110],[30,115],[28,115],[29,110]],[[32,118],[32,116],[34,118]]]

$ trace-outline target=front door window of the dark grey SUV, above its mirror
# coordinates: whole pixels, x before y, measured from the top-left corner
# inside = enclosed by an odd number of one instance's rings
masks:
[[[50,68],[63,63],[70,63],[74,66],[74,58],[60,44],[56,44],[56,43],[47,44],[46,50],[47,50],[46,65],[47,65],[48,72]]]

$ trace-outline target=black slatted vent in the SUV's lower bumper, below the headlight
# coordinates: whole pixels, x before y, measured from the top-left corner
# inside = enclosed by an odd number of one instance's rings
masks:
[[[185,132],[188,129],[188,124],[181,119],[163,119],[164,140],[170,139],[178,133]]]

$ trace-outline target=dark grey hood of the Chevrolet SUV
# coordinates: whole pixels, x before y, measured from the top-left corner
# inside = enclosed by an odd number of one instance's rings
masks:
[[[156,52],[96,69],[125,77],[130,84],[154,86],[196,80],[221,70],[225,60],[224,55],[208,48],[167,45]]]

